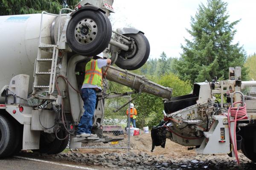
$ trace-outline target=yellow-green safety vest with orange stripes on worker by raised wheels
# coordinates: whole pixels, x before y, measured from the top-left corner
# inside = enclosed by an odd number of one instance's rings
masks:
[[[102,69],[98,67],[97,60],[91,59],[85,66],[85,76],[83,84],[96,85],[102,87]]]

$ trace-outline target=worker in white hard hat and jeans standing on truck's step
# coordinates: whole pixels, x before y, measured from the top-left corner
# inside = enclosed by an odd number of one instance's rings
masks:
[[[111,59],[103,59],[103,53],[94,56],[85,66],[84,82],[81,88],[84,100],[84,114],[78,125],[77,137],[97,137],[91,134],[96,106],[96,92],[102,91],[102,67],[111,64]]]

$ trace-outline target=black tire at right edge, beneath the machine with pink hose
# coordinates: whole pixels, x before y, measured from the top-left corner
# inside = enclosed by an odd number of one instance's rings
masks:
[[[243,136],[244,137],[244,136]],[[254,152],[253,139],[243,138],[241,150],[248,159],[253,162],[256,162],[256,153]]]

